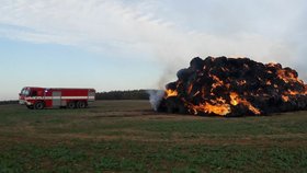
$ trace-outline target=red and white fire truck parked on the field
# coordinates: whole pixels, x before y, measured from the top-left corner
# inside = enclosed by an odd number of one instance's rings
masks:
[[[30,109],[86,108],[94,102],[95,90],[25,86],[19,95],[19,103]]]

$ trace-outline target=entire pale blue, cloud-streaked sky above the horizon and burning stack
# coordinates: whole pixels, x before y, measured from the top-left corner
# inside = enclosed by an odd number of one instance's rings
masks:
[[[307,80],[305,0],[0,2],[0,100],[25,85],[161,89],[196,56],[281,62]]]

